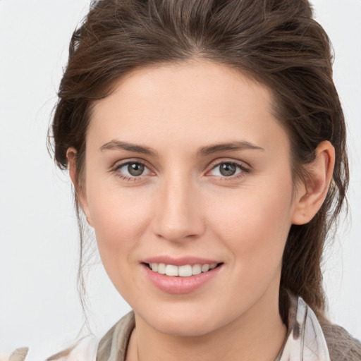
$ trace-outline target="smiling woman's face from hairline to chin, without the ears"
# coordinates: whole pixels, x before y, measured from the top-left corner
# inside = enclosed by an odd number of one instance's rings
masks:
[[[95,104],[82,207],[111,281],[152,328],[202,335],[278,310],[297,209],[271,102],[242,73],[190,61],[133,71]]]

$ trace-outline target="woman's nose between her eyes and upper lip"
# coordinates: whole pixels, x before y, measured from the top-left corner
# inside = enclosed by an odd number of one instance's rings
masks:
[[[204,233],[197,187],[189,179],[169,177],[159,185],[153,232],[171,242],[195,239]]]

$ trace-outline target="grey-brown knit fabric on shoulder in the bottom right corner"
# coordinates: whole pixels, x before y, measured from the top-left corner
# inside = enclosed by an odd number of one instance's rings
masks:
[[[324,338],[331,361],[360,361],[361,360],[361,342],[353,338],[348,331],[336,324],[331,324],[326,319],[320,319]]]

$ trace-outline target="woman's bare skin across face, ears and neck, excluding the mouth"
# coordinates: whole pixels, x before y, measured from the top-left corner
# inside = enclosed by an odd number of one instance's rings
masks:
[[[334,148],[322,142],[308,183],[294,185],[290,143],[263,85],[216,63],[140,68],[94,105],[85,178],[69,170],[106,272],[135,312],[127,360],[274,360],[281,259],[291,224],[310,221],[326,196]],[[101,149],[109,142],[152,149]],[[203,147],[247,142],[200,154]],[[262,149],[261,149],[262,148]],[[146,165],[131,176],[126,161]],[[237,163],[223,176],[220,163]],[[124,178],[126,177],[126,178]],[[219,259],[216,276],[173,295],[140,262],[171,255]]]

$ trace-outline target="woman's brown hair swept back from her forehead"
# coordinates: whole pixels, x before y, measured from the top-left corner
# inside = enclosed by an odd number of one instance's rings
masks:
[[[288,130],[295,180],[302,178],[302,164],[312,162],[320,142],[329,140],[336,150],[326,200],[308,224],[291,226],[281,274],[283,321],[286,290],[322,317],[322,251],[348,186],[345,122],[330,48],[307,0],[95,1],[73,33],[59,88],[52,124],[56,163],[66,169],[66,150],[75,147],[81,181],[94,100],[106,97],[118,78],[140,66],[208,59],[261,82],[271,90],[276,117]],[[82,257],[80,269],[81,262]]]

